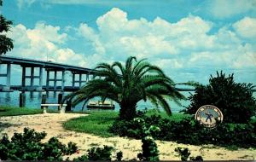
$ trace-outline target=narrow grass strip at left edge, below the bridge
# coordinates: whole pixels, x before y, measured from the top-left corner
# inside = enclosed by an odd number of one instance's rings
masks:
[[[16,115],[29,115],[43,113],[42,109],[32,109],[25,107],[0,107],[0,117],[3,116],[16,116]]]

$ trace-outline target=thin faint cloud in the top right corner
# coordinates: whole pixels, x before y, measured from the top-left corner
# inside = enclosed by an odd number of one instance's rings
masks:
[[[214,17],[224,19],[255,9],[256,0],[215,0],[210,1],[208,10]]]

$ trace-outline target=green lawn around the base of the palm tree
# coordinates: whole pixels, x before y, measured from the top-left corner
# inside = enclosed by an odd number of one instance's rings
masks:
[[[155,112],[155,110],[149,110],[147,115],[154,113],[160,114],[163,118],[169,118],[176,121],[183,119],[188,115],[182,113],[174,113],[171,117],[167,116],[166,113]],[[66,130],[74,130],[84,133],[90,133],[96,136],[110,137],[115,136],[108,132],[109,127],[113,124],[114,120],[118,118],[118,112],[100,111],[90,112],[89,116],[79,117],[77,119],[70,119],[63,124]]]

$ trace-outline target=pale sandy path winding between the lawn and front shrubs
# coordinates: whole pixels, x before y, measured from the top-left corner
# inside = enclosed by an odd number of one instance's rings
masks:
[[[113,152],[113,158],[115,153],[121,150],[123,152],[123,159],[125,160],[136,159],[137,153],[141,152],[142,143],[140,140],[119,136],[104,138],[86,133],[64,130],[62,127],[63,122],[80,116],[86,115],[76,113],[44,113],[1,117],[0,122],[13,124],[12,126],[5,128],[1,134],[3,135],[3,133],[7,133],[10,137],[13,136],[15,132],[22,132],[24,127],[29,127],[37,131],[45,131],[47,136],[44,141],[48,140],[51,136],[57,136],[63,143],[67,144],[67,142],[75,142],[78,144],[79,153],[74,153],[70,156],[70,159],[81,156],[92,146],[113,146],[116,148]],[[255,149],[238,149],[236,151],[231,151],[212,145],[194,146],[178,144],[176,142],[156,142],[160,150],[161,160],[179,160],[177,153],[174,151],[177,147],[189,148],[192,156],[201,155],[205,160],[254,160],[256,158]]]

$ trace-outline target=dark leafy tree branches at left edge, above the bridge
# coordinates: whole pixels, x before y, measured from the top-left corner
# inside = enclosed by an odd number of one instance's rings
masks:
[[[0,6],[3,5],[3,1],[0,0]],[[13,22],[11,20],[6,20],[3,15],[0,15],[0,55],[6,54],[14,48],[13,40],[7,38],[3,32],[9,32]]]

